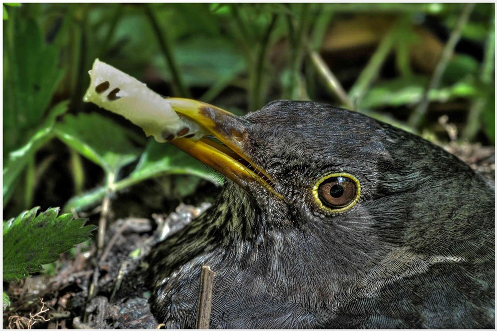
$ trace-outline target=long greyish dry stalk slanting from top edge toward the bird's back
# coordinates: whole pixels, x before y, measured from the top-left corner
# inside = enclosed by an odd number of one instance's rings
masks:
[[[428,94],[431,90],[437,89],[438,86],[440,85],[440,80],[442,79],[442,75],[445,72],[445,69],[447,69],[447,65],[450,59],[452,58],[452,54],[454,54],[454,48],[456,47],[457,42],[461,37],[462,29],[464,25],[466,25],[466,22],[468,21],[468,18],[471,14],[471,11],[473,11],[474,6],[475,6],[474,3],[466,3],[464,5],[463,10],[461,11],[461,15],[459,15],[459,18],[457,20],[456,26],[450,33],[449,40],[447,41],[445,47],[443,48],[442,54],[440,55],[440,60],[438,61],[435,67],[435,71],[431,76],[430,84],[428,85],[428,88],[424,91],[421,102],[409,117],[408,123],[410,126],[418,128],[419,124],[421,123],[421,120],[426,114],[426,110],[428,109],[428,104],[429,104]]]

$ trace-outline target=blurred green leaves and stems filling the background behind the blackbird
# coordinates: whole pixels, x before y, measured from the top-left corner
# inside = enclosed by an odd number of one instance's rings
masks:
[[[4,219],[95,215],[105,197],[115,217],[150,217],[218,190],[210,169],[83,103],[95,58],[237,114],[314,100],[432,141],[495,141],[493,3],[4,4]]]

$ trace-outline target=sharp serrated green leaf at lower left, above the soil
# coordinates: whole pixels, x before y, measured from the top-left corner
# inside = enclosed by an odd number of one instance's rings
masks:
[[[59,254],[87,240],[96,227],[84,225],[72,214],[58,216],[50,208],[36,216],[39,207],[22,212],[3,222],[3,281],[27,277],[43,270],[42,264],[54,262]]]

